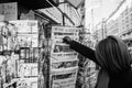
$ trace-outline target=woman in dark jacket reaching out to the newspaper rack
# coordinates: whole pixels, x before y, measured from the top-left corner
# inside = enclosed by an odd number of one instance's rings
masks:
[[[96,88],[132,88],[131,55],[122,40],[108,36],[97,44],[96,51],[68,36],[63,42],[101,67]]]

